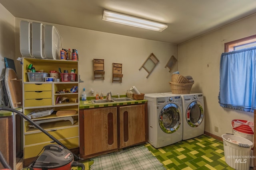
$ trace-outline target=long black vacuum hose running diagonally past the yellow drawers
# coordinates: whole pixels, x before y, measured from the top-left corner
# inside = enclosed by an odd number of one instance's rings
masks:
[[[28,118],[26,115],[24,115],[23,113],[21,113],[20,111],[16,110],[16,109],[12,109],[9,107],[0,107],[0,110],[6,110],[6,111],[12,111],[17,113],[18,115],[20,115],[22,118],[26,119],[29,123],[31,123],[32,125],[34,125],[35,127],[37,127],[40,131],[42,131],[44,134],[46,134],[48,137],[50,137],[50,139],[52,139],[54,142],[56,142],[57,144],[61,145],[62,147],[64,147],[65,149],[68,149],[67,147],[65,147],[60,141],[58,141],[55,137],[53,137],[52,135],[50,135],[46,130],[44,130],[42,127],[40,127],[38,124],[36,124],[34,121],[32,121],[30,118]],[[75,160],[79,160],[79,157],[74,155],[74,159]]]

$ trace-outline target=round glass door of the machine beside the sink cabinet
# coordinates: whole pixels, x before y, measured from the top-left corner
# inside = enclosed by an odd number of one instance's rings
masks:
[[[160,111],[159,125],[165,133],[174,133],[181,123],[181,111],[176,104],[167,104]]]

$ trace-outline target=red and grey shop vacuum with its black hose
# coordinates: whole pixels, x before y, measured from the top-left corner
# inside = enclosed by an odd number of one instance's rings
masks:
[[[57,143],[44,146],[44,152],[37,158],[36,161],[32,162],[28,166],[30,170],[71,170],[71,168],[74,166],[80,166],[82,170],[84,170],[84,164],[74,161],[79,160],[78,156],[72,154],[72,152],[68,150],[68,148],[65,147],[62,143],[60,143],[60,141],[42,129],[42,127],[34,123],[34,121],[29,119],[26,115],[16,109],[9,107],[0,107],[0,110],[7,110],[18,113],[18,115],[26,119],[28,122],[37,127],[40,131],[42,131],[44,134],[50,137],[50,139]],[[4,168],[8,168],[4,170],[12,170],[10,165],[8,165],[4,159],[2,152],[0,152],[0,162]]]

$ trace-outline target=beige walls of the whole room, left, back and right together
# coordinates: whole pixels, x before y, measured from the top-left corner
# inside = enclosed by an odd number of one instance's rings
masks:
[[[14,60],[21,57],[19,51],[20,20],[22,19],[15,19],[0,4],[1,73],[4,68],[4,57]],[[224,133],[232,133],[230,125],[232,119],[253,121],[253,113],[220,107],[218,92],[220,55],[224,52],[224,43],[256,34],[255,20],[256,16],[250,16],[183,43],[178,48],[176,45],[146,39],[63,25],[55,26],[63,38],[63,48],[78,49],[80,79],[84,81],[80,83],[80,92],[83,87],[86,87],[87,96],[90,96],[90,88],[93,88],[95,92],[102,90],[106,94],[111,91],[113,95],[116,95],[117,93],[125,94],[131,86],[136,86],[142,93],[170,92],[168,82],[171,73],[164,66],[174,55],[178,59],[178,64],[174,66],[171,72],[179,68],[180,74],[193,76],[195,84],[192,92],[204,94],[205,130],[221,136]],[[150,53],[154,53],[160,63],[146,78],[147,72],[143,68],[142,70],[139,68]],[[93,80],[93,59],[105,59],[105,80]],[[112,63],[123,64],[124,77],[121,84],[112,83]],[[18,76],[21,76],[21,67],[18,62],[16,62],[16,68],[18,69]],[[218,133],[214,132],[214,126],[219,127]]]

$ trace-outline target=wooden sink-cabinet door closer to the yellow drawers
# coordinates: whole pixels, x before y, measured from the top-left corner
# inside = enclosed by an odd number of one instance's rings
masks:
[[[84,110],[84,155],[117,148],[117,107]]]

